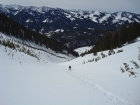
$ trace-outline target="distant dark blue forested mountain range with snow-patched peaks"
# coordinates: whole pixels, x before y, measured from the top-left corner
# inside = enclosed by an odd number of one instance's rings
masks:
[[[122,24],[140,22],[140,15],[129,12],[65,10],[50,7],[0,5],[5,13],[29,29],[54,38],[70,48],[95,43],[99,35]]]

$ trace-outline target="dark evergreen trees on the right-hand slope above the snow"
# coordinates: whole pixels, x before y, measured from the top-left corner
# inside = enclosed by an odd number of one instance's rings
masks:
[[[99,51],[122,47],[126,43],[135,42],[137,37],[140,37],[140,23],[134,22],[128,27],[122,25],[120,29],[106,33],[90,51],[83,53],[82,56],[89,53],[96,54]]]

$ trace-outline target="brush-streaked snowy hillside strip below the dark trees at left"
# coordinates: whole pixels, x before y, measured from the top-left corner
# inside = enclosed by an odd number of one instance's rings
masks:
[[[23,53],[22,55],[28,55],[36,58],[37,61],[45,61],[45,62],[64,62],[70,59],[73,59],[74,56],[71,54],[56,53],[50,48],[46,48],[44,46],[36,45],[33,42],[22,41],[15,37],[9,37],[0,32],[0,42],[7,47],[3,47],[5,49],[5,53],[12,57],[12,59],[17,57],[17,53]],[[13,46],[12,46],[13,45]],[[11,49],[8,49],[11,48]],[[19,57],[18,57],[19,58]]]

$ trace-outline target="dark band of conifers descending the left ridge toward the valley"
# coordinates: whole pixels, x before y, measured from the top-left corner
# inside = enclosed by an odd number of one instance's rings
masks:
[[[50,48],[55,52],[63,53],[63,51],[66,50],[68,53],[78,56],[77,52],[67,48],[58,41],[27,29],[14,20],[8,18],[5,14],[0,14],[0,32],[9,36],[14,36],[23,41],[31,41],[41,46],[44,45],[46,48]]]

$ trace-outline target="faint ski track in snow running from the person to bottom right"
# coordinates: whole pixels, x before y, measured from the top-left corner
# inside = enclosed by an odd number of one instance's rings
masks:
[[[107,98],[108,100],[106,100],[106,101],[114,101],[115,105],[138,105],[138,104],[129,102],[128,100],[125,100],[122,97],[119,97],[119,96],[103,89],[102,87],[98,86],[97,84],[93,83],[92,81],[90,81],[80,75],[74,74],[72,72],[70,74],[73,75],[76,79],[81,80],[84,84],[89,85],[92,89],[94,89],[97,92],[97,94],[101,94],[102,96]]]

